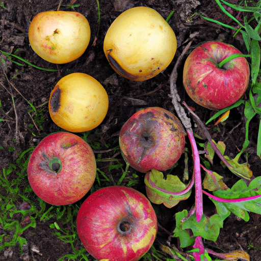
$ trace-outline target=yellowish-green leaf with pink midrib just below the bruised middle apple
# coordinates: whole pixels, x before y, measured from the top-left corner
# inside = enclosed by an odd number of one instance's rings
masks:
[[[145,175],[145,188],[149,200],[155,204],[163,203],[167,207],[175,206],[180,200],[189,198],[191,190],[184,194],[187,187],[177,176],[167,175],[164,179],[163,173],[158,170],[151,170]],[[178,194],[178,195],[177,195]]]

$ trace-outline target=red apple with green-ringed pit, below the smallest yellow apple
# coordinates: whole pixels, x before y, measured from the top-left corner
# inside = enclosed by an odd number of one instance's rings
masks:
[[[49,204],[67,205],[80,200],[92,187],[96,162],[91,147],[72,133],[45,137],[28,163],[29,183]]]

